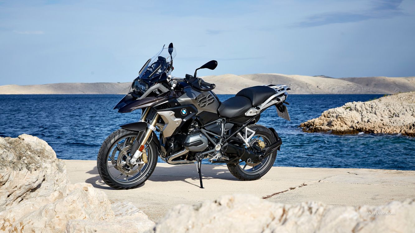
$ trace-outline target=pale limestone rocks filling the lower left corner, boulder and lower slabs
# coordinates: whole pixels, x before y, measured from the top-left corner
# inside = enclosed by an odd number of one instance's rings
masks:
[[[144,232],[154,222],[133,204],[111,204],[87,183],[70,184],[53,149],[31,135],[0,137],[0,230]]]

